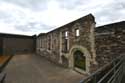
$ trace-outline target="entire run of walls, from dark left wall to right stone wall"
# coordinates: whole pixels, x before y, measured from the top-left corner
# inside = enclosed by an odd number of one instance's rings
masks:
[[[36,36],[0,33],[0,55],[36,52],[80,73],[125,54],[125,21],[95,27],[92,14]]]

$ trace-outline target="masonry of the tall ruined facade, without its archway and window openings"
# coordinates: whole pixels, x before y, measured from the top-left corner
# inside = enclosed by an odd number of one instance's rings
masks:
[[[73,58],[70,52],[76,46],[75,49],[78,50],[80,47],[85,48],[90,55],[90,61],[93,61],[95,57],[94,28],[95,19],[90,14],[53,31],[40,34],[37,37],[37,54],[68,67],[70,58]],[[79,36],[76,36],[77,29]]]

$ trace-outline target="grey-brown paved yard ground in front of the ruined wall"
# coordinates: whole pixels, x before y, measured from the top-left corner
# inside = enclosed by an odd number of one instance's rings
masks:
[[[16,55],[6,67],[6,83],[79,83],[83,75],[41,56]]]

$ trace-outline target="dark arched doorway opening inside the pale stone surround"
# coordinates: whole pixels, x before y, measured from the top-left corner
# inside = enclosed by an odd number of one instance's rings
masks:
[[[86,58],[79,50],[74,53],[74,67],[86,70]]]

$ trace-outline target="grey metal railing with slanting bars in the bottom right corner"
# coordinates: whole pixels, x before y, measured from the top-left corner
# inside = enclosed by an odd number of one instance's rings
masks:
[[[117,57],[80,83],[121,83],[124,75],[124,55]]]

